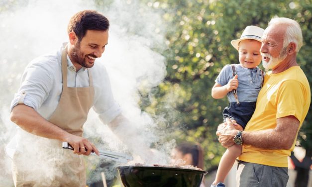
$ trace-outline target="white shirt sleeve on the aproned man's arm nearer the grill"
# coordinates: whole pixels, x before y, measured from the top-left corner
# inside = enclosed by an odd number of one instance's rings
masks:
[[[119,104],[114,100],[106,69],[101,67],[101,72],[97,71],[93,75],[96,91],[93,109],[99,114],[99,118],[102,122],[108,124],[121,114],[122,110]]]

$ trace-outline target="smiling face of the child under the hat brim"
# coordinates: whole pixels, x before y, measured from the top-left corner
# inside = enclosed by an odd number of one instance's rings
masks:
[[[239,63],[245,68],[255,68],[262,60],[260,55],[261,42],[257,40],[242,40],[239,43]]]

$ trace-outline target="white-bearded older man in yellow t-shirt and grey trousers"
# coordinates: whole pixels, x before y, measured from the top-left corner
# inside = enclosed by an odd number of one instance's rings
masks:
[[[273,18],[263,33],[263,66],[272,71],[265,76],[255,112],[244,131],[227,119],[229,128],[219,136],[224,147],[243,145],[236,186],[286,187],[288,156],[311,102],[309,82],[296,61],[302,40],[300,25],[289,18]]]

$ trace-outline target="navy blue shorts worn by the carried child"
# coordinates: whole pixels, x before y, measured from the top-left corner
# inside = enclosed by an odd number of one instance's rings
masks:
[[[232,118],[245,129],[255,108],[256,102],[230,102],[223,110],[223,120],[225,122],[226,118]]]

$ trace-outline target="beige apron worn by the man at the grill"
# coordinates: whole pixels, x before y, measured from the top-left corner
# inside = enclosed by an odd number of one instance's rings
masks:
[[[59,104],[49,121],[77,136],[82,136],[83,125],[93,105],[94,88],[90,69],[88,74],[89,87],[67,87],[65,47],[62,51],[63,90]],[[24,146],[28,149],[24,150],[26,154],[16,152],[13,156],[15,187],[86,187],[86,169],[82,155],[62,149],[62,142],[58,140],[31,136],[32,140]]]

